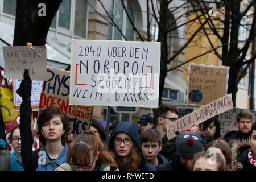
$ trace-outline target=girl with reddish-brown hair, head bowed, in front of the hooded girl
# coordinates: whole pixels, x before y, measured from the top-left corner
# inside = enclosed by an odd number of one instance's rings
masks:
[[[93,131],[75,137],[68,150],[67,163],[56,171],[110,171],[118,170],[114,158],[105,150],[104,143]]]

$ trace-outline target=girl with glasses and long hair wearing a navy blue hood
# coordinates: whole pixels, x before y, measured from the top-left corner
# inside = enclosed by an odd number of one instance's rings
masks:
[[[137,127],[133,122],[119,122],[109,139],[109,151],[121,171],[155,171],[142,154]]]

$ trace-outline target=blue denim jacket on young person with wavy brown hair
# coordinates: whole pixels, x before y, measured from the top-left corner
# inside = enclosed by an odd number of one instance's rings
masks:
[[[46,148],[42,144],[41,150],[39,151],[38,159],[38,168],[36,171],[54,171],[60,164],[63,164],[67,160],[68,147],[65,144],[63,150],[60,152],[60,155],[55,160],[49,160],[46,154]]]

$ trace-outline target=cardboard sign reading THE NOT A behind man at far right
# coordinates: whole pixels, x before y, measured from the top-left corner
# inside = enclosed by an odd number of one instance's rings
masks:
[[[225,111],[225,113],[221,113],[218,115],[218,121],[220,121],[220,134],[225,135],[229,131],[237,131],[238,127],[236,125],[237,121],[237,114],[241,110],[247,110],[247,109],[240,109],[240,108],[233,108],[228,111]],[[256,122],[256,111],[255,110],[249,110],[251,113],[253,113],[253,122]]]

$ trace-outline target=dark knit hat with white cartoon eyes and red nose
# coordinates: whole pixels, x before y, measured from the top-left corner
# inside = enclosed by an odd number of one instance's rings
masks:
[[[200,131],[184,130],[176,131],[176,151],[177,155],[194,156],[197,152],[203,151],[205,134]]]

